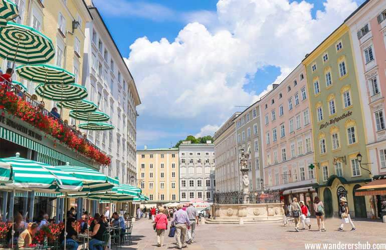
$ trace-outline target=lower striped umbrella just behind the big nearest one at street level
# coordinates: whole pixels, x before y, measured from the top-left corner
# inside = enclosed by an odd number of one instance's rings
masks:
[[[108,191],[113,186],[119,184],[117,179],[111,178],[97,170],[82,166],[72,166],[68,162],[66,165],[49,166],[47,169],[58,176],[61,176],[62,173],[66,173],[67,175],[82,180],[82,193]]]

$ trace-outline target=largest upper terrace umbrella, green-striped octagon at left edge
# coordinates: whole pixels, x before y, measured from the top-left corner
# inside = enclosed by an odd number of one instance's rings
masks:
[[[38,30],[7,22],[0,28],[0,57],[21,64],[45,63],[55,55],[52,40]]]

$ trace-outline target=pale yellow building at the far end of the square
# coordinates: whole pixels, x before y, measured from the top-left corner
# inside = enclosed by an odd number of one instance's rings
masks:
[[[178,201],[178,148],[137,150],[137,178],[147,207]]]

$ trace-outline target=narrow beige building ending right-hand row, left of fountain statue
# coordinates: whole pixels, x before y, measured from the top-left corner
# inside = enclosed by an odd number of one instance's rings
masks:
[[[234,119],[240,113],[234,113],[214,135],[215,176],[217,190],[220,192],[239,190],[241,172],[238,170],[236,123]]]

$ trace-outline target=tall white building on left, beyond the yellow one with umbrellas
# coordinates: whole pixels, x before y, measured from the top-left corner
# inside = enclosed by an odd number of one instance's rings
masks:
[[[136,184],[136,106],[140,98],[134,79],[98,9],[88,1],[93,20],[86,23],[82,85],[88,100],[110,115],[113,130],[88,132],[91,141],[111,157],[101,169],[120,183]]]

